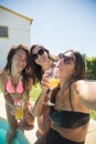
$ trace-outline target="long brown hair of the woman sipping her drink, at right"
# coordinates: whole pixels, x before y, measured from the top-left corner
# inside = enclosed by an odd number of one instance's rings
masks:
[[[75,56],[75,72],[73,79],[83,80],[85,79],[85,61],[83,55],[78,51],[68,50],[65,53],[71,52]]]

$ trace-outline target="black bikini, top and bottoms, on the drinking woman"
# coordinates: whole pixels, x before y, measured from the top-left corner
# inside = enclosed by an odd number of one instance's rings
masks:
[[[53,94],[52,102],[55,103],[55,96],[60,88],[57,88]],[[70,86],[70,103],[72,111],[57,111],[54,106],[51,109],[51,119],[53,123],[60,127],[75,128],[83,126],[89,122],[89,113],[76,112],[74,111],[72,100],[71,100],[71,86]],[[85,142],[74,142],[62,136],[58,132],[51,128],[46,134],[46,144],[84,144]]]

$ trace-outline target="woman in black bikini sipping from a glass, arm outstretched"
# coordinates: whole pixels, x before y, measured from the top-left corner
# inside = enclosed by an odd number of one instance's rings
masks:
[[[51,94],[51,102],[54,103],[54,106],[50,106],[52,128],[45,134],[44,141],[40,137],[41,143],[36,141],[35,144],[84,144],[89,124],[89,109],[96,110],[96,83],[84,81],[85,63],[79,52],[70,50],[61,53],[58,69],[60,84]],[[45,72],[42,78],[42,92],[34,106],[34,116],[43,113],[49,86]]]

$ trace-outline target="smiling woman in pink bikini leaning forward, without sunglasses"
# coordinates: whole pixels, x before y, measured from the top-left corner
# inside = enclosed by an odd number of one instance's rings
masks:
[[[14,45],[10,49],[7,58],[7,64],[0,73],[0,90],[6,100],[6,111],[9,123],[7,133],[7,144],[11,144],[15,136],[15,130],[19,126],[15,113],[18,107],[15,102],[23,103],[23,121],[28,125],[34,124],[32,115],[32,105],[30,103],[29,92],[34,84],[32,75],[29,73],[29,50],[26,45]]]

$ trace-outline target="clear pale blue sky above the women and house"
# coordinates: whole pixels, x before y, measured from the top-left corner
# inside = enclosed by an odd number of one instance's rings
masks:
[[[96,56],[96,0],[0,0],[0,4],[33,19],[31,45],[52,54],[77,50]]]

